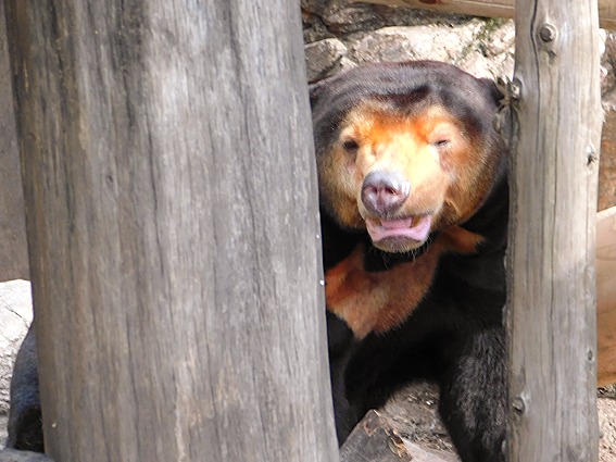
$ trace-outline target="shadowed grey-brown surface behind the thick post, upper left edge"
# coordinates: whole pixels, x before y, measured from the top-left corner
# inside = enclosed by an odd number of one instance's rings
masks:
[[[22,190],[4,5],[0,3],[0,282],[29,278]]]

